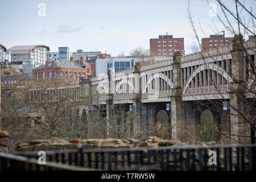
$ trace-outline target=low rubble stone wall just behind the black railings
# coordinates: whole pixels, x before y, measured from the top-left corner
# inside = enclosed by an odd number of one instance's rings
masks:
[[[83,148],[118,148],[118,147],[159,147],[159,146],[186,146],[189,144],[207,145],[216,144],[216,142],[196,142],[182,143],[179,140],[163,140],[158,137],[146,137],[142,140],[134,138],[128,139],[71,139],[69,141],[63,139],[52,140],[31,140],[29,143],[19,144],[16,151],[48,151],[48,150],[72,150],[77,148],[77,144],[81,144]]]

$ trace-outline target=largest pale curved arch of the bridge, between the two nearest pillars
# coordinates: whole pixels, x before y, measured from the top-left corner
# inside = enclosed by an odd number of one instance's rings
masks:
[[[218,67],[217,64],[210,63],[208,64],[208,68],[204,68],[204,65],[201,65],[200,67],[196,68],[196,70],[191,74],[191,76],[188,78],[187,83],[184,86],[182,94],[184,95],[185,92],[188,89],[189,84],[192,82],[193,78],[196,77],[198,73],[204,70],[212,69],[213,71],[216,71],[219,73],[228,83],[232,82],[232,77],[221,67]]]

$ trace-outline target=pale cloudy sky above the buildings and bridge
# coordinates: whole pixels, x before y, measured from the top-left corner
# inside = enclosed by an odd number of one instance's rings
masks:
[[[214,0],[191,1],[191,13],[200,38],[204,34],[200,31],[199,19],[207,36],[224,30],[209,12],[209,3],[217,5]],[[234,7],[233,0],[225,4]],[[256,7],[256,3],[248,0],[245,6]],[[72,52],[84,49],[117,55],[123,51],[127,55],[138,46],[149,48],[150,38],[168,32],[174,38],[184,38],[187,51],[196,41],[187,9],[188,0],[0,0],[0,44],[7,48],[46,44],[51,51],[68,46]],[[216,12],[221,13],[218,5]],[[226,36],[228,34],[226,32]]]

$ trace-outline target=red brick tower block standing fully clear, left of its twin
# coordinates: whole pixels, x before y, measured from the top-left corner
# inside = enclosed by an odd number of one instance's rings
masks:
[[[175,51],[184,50],[184,38],[173,38],[172,35],[159,35],[150,39],[150,56],[172,57]]]

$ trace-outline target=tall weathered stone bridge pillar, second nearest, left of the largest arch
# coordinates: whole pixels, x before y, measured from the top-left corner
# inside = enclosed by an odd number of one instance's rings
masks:
[[[171,89],[171,117],[172,117],[172,138],[184,141],[184,108],[181,95],[181,77],[180,77],[180,53],[175,52],[173,70],[173,84]]]

